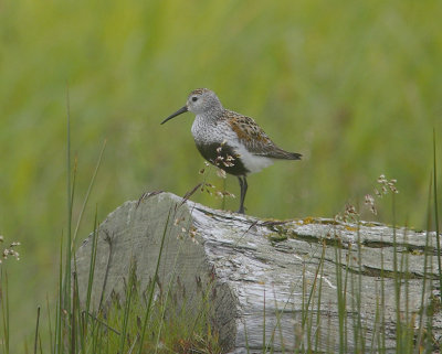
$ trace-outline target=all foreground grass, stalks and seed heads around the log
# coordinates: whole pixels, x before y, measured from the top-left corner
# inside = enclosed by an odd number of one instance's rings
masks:
[[[69,115],[67,115],[69,122]],[[67,125],[67,158],[70,161],[70,128]],[[435,138],[434,138],[435,146]],[[433,169],[436,169],[436,154],[434,149]],[[91,189],[95,180],[97,170],[101,164],[103,149],[95,168],[95,172],[91,180]],[[209,170],[210,172],[210,170]],[[76,181],[76,163],[74,169],[71,171],[71,165],[67,164],[67,175],[73,175],[66,180],[66,184],[70,186],[66,189],[67,194],[67,219],[72,216],[71,212],[74,205],[75,194],[75,181]],[[208,186],[206,185],[207,174],[203,173],[203,182],[198,184],[188,196],[193,195],[194,192],[206,192]],[[72,184],[72,185],[71,185]],[[439,216],[436,215],[438,208],[434,204],[438,201],[436,189],[436,173],[432,173],[430,183],[430,192],[428,197],[428,229],[436,229]],[[85,196],[83,202],[83,208],[87,205],[87,197],[91,192]],[[432,253],[427,251],[432,246],[432,239],[430,233],[427,233],[427,245],[424,253],[424,267],[423,267],[423,279],[422,279],[422,297],[420,311],[412,312],[409,309],[409,259],[408,253],[399,253],[397,248],[398,237],[403,238],[403,244],[407,244],[407,229],[403,235],[397,235],[394,228],[396,221],[396,181],[388,180],[383,175],[378,179],[377,189],[380,191],[377,202],[381,199],[388,199],[391,202],[391,217],[393,219],[393,270],[389,271],[389,276],[392,277],[394,282],[394,304],[396,304],[396,352],[412,354],[421,352],[432,352],[441,350],[442,344],[435,342],[432,334],[432,317],[436,311],[440,311],[441,302],[440,299],[432,298],[430,303],[428,302],[427,291],[428,287],[432,287],[431,278],[428,276],[428,264],[432,264]],[[434,196],[434,199],[433,199]],[[378,207],[378,205],[376,205]],[[179,207],[177,205],[177,207]],[[86,292],[85,303],[81,303],[78,294],[78,285],[76,278],[76,259],[75,250],[72,249],[71,236],[67,233],[66,239],[63,247],[63,239],[60,245],[60,266],[59,266],[59,288],[57,288],[57,301],[53,307],[55,310],[51,311],[51,305],[48,304],[48,328],[49,337],[48,341],[42,333],[45,328],[42,323],[41,308],[36,308],[36,324],[34,329],[34,336],[32,343],[24,341],[25,353],[30,352],[29,347],[33,348],[33,353],[201,353],[201,354],[218,354],[222,353],[222,348],[218,342],[217,328],[212,326],[212,317],[214,309],[211,308],[210,294],[212,293],[211,283],[207,287],[202,287],[199,291],[199,297],[191,299],[188,302],[186,298],[186,291],[181,287],[179,281],[171,281],[167,285],[159,282],[158,269],[160,259],[164,251],[164,243],[168,236],[169,222],[173,219],[175,208],[171,207],[167,219],[164,225],[164,233],[161,237],[161,244],[158,253],[157,266],[152,276],[152,280],[149,282],[146,289],[141,289],[139,281],[136,278],[136,260],[131,262],[131,267],[128,270],[127,277],[124,279],[124,296],[113,294],[110,301],[103,303],[99,302],[99,307],[95,311],[91,311],[91,291],[92,282],[94,281],[94,267],[96,257],[97,246],[97,213],[94,216],[94,232],[92,235],[92,250],[90,259],[90,275],[88,285]],[[80,219],[77,225],[81,224],[81,217],[83,213],[80,213]],[[336,219],[351,221],[359,225],[360,213],[357,207],[352,205],[346,205],[345,212],[341,215],[337,215]],[[67,222],[67,225],[72,225],[72,221]],[[359,235],[359,230],[357,230]],[[187,235],[189,237],[190,234]],[[319,262],[317,265],[313,281],[307,281],[305,276],[305,268],[303,270],[302,278],[302,309],[301,318],[296,321],[294,330],[297,333],[298,340],[297,347],[293,353],[335,353],[335,345],[337,342],[339,353],[387,353],[388,347],[386,346],[386,319],[385,319],[385,297],[392,296],[386,294],[383,289],[383,277],[381,264],[381,288],[376,289],[378,297],[376,308],[376,324],[373,329],[369,329],[365,325],[361,317],[361,299],[362,299],[362,287],[361,287],[361,272],[362,272],[362,251],[361,243],[358,238],[357,257],[355,260],[351,259],[350,249],[346,253],[346,259],[344,260],[345,248],[340,240],[340,235],[335,230],[336,242],[328,247],[334,247],[335,250],[335,265],[336,265],[336,298],[337,298],[337,318],[338,318],[338,337],[334,339],[324,346],[324,343],[319,342],[320,333],[329,333],[329,324],[324,326],[324,323],[319,323],[319,312],[324,311],[324,307],[327,304],[322,303],[322,283],[323,283],[323,265],[325,261],[325,249],[327,245],[323,244],[323,251]],[[15,246],[9,246],[8,251],[3,251],[3,255],[11,255],[18,257],[14,254],[13,248]],[[64,248],[64,249],[63,249]],[[380,250],[382,255],[382,250]],[[439,253],[439,250],[438,250]],[[3,256],[4,258],[4,256]],[[430,259],[429,259],[430,258]],[[4,259],[6,260],[6,259]],[[355,275],[350,270],[351,265],[356,261],[355,269],[358,269],[358,273]],[[349,265],[350,267],[346,266]],[[73,268],[72,268],[73,267]],[[439,275],[441,269],[439,268]],[[319,276],[320,275],[320,276]],[[72,286],[67,286],[72,285]],[[103,286],[105,287],[105,285]],[[10,325],[11,312],[9,309],[9,289],[8,277],[3,273],[1,277],[1,347],[4,353],[10,353],[11,343],[10,334],[12,328]],[[380,291],[379,291],[380,290]],[[275,294],[274,294],[275,296]],[[276,305],[276,325],[273,329],[270,341],[267,340],[266,333],[266,310],[265,310],[265,290],[264,290],[264,312],[263,312],[263,343],[262,353],[273,353],[274,345],[278,342],[283,343],[284,337],[281,328],[281,314],[284,309],[277,309]],[[275,298],[276,299],[276,298]],[[276,303],[275,303],[276,304]],[[350,312],[349,312],[350,311]],[[51,313],[54,313],[54,320],[51,320]],[[419,318],[420,326],[415,328],[415,319]],[[52,326],[51,323],[54,323]],[[352,332],[352,339],[349,337],[350,330]],[[367,342],[366,333],[371,331],[371,341]],[[54,334],[53,334],[54,333]],[[350,343],[355,348],[350,348]],[[370,347],[368,347],[370,344]],[[292,351],[284,350],[284,353],[292,353]]]

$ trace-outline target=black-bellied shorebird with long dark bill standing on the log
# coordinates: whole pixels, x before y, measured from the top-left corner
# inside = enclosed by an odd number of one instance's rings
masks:
[[[225,109],[215,93],[208,88],[192,90],[186,105],[162,120],[161,125],[187,111],[196,115],[191,132],[201,155],[238,178],[240,214],[244,214],[245,210],[249,174],[271,165],[274,160],[302,158],[301,153],[278,148],[253,118]]]

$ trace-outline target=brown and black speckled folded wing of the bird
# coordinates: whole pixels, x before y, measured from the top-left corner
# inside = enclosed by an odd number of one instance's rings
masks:
[[[227,110],[225,118],[238,139],[253,154],[272,159],[298,160],[299,153],[288,152],[275,146],[262,128],[250,117]]]

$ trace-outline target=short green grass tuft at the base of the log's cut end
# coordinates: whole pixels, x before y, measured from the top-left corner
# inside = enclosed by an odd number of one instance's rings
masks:
[[[124,296],[114,293],[96,312],[90,312],[80,305],[75,276],[73,281],[71,314],[59,302],[63,311],[52,329],[60,333],[54,343],[41,341],[39,333],[44,328],[38,322],[35,343],[41,344],[34,353],[221,353],[209,322],[206,292],[210,286],[192,299],[190,311],[179,287],[161,292],[165,285],[151,281],[146,290],[140,289],[134,264],[124,279]]]

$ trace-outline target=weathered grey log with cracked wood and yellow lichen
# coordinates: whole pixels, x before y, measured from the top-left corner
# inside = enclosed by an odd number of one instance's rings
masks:
[[[420,322],[422,296],[425,307],[439,297],[435,250],[425,248],[425,233],[324,218],[263,221],[151,193],[126,202],[99,226],[95,309],[112,291],[123,292],[133,260],[140,286],[148,285],[164,235],[158,282],[183,285],[190,299],[201,285],[211,286],[213,323],[227,352],[262,353],[265,345],[274,353],[341,345],[352,352],[361,341],[367,350],[382,343],[389,352],[396,347],[396,290],[402,321],[414,324],[417,336],[427,323]],[[76,253],[82,301],[91,249],[92,235]],[[436,337],[441,320],[436,312]]]

